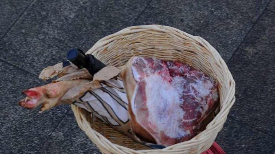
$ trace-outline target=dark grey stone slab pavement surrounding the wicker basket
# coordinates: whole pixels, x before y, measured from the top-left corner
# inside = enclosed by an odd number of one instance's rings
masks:
[[[17,105],[45,84],[42,68],[71,47],[133,25],[173,26],[212,44],[236,81],[216,142],[229,154],[275,153],[275,0],[1,0],[0,153],[100,153],[68,105],[43,114]]]

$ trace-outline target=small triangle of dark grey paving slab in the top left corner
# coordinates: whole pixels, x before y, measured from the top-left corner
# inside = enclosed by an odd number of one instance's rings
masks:
[[[1,0],[0,1],[0,39],[7,33],[32,0]]]

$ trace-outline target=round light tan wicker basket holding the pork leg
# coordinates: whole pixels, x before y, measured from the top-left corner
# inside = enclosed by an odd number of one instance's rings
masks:
[[[200,154],[214,142],[222,129],[227,114],[235,102],[235,81],[226,63],[206,40],[169,26],[132,26],[99,40],[88,50],[103,63],[121,66],[135,55],[183,61],[197,68],[218,82],[220,95],[219,113],[206,129],[189,141],[164,149],[149,149],[133,142],[77,106],[72,110],[79,127],[104,154]]]

